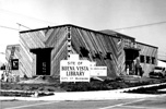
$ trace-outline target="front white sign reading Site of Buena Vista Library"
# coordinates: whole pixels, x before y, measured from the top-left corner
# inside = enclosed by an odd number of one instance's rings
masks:
[[[90,61],[61,60],[60,82],[90,82]]]

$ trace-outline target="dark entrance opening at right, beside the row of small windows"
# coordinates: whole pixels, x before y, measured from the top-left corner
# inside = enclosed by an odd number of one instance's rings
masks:
[[[129,69],[130,75],[138,75],[138,68],[140,66],[140,61],[138,60],[139,51],[140,49],[124,48],[126,70]]]

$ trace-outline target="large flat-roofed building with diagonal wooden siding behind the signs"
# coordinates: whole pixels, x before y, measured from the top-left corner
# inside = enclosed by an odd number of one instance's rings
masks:
[[[137,66],[147,73],[157,64],[157,47],[135,41],[135,38],[112,31],[92,31],[67,24],[46,28],[20,32],[20,45],[7,47],[10,59],[19,59],[20,76],[60,74],[60,60],[70,53],[79,53],[81,59],[95,61],[96,65],[107,66],[107,76],[138,74]]]

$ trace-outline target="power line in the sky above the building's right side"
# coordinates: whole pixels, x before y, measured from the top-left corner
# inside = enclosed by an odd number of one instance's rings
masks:
[[[129,26],[129,27],[121,27],[121,28],[112,28],[112,31],[140,28],[140,27],[145,27],[145,26],[161,25],[161,24],[165,24],[165,23],[166,23],[166,21],[163,21],[163,22],[156,22],[156,23],[150,23],[150,24],[143,24],[143,25],[137,25],[137,26]]]

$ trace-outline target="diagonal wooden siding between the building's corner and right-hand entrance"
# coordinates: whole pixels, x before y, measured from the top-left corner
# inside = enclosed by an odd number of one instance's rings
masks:
[[[86,57],[88,60],[96,61],[96,65],[108,68],[108,76],[115,77],[124,72],[124,51],[122,41],[118,44],[119,38],[78,27],[72,27],[71,35],[74,51],[83,56],[80,49],[85,48],[90,52]],[[106,58],[108,52],[111,52],[111,59]]]

